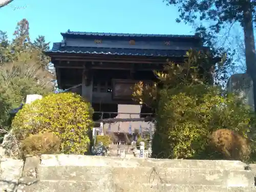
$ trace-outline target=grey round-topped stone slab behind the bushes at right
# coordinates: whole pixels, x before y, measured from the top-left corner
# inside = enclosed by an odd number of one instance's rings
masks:
[[[236,94],[254,111],[253,84],[251,77],[246,74],[234,74],[228,79],[227,91]]]

